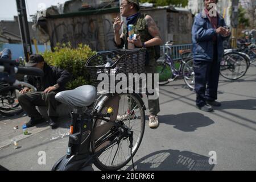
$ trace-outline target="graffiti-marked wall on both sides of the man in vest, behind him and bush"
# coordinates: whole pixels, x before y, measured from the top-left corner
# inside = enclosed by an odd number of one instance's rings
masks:
[[[142,10],[151,15],[159,27],[165,42],[175,40],[176,44],[191,43],[192,14],[188,11],[168,12],[166,9]],[[47,18],[47,29],[51,46],[71,42],[88,44],[96,51],[116,49],[114,46],[113,20],[119,13],[72,15]]]

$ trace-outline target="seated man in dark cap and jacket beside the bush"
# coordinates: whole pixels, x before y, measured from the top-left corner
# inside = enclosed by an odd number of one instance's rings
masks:
[[[44,72],[43,77],[28,76],[25,79],[25,81],[34,85],[38,92],[30,92],[30,89],[24,88],[20,91],[21,94],[18,97],[19,104],[31,118],[27,127],[35,126],[36,123],[44,121],[35,106],[47,106],[49,125],[56,127],[59,115],[56,112],[58,102],[55,100],[55,95],[57,92],[65,90],[65,84],[70,80],[71,75],[65,70],[49,66],[44,62],[41,55],[31,55],[26,67],[39,68]]]

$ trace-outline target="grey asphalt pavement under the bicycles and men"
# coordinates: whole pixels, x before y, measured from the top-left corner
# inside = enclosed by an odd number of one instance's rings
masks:
[[[256,67],[250,67],[237,81],[220,76],[218,101],[222,106],[210,113],[195,107],[196,94],[183,80],[161,86],[160,125],[150,129],[147,118],[142,144],[134,157],[135,169],[256,170],[255,82]],[[60,119],[56,130],[42,123],[28,130],[31,135],[23,135],[22,123],[28,120],[22,114],[0,118],[0,166],[19,171],[51,170],[67,151],[71,119]],[[18,139],[17,149],[10,145],[13,138]],[[40,151],[46,154],[46,164],[40,163]],[[88,170],[98,169],[93,166]],[[131,163],[123,170],[132,170]]]

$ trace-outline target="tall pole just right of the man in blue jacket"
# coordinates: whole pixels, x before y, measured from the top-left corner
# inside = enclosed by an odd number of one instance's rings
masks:
[[[232,48],[237,47],[238,3],[239,0],[232,0]]]

